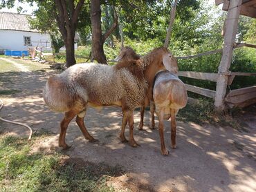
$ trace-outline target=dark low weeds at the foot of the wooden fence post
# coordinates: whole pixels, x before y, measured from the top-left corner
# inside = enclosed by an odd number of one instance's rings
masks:
[[[187,104],[182,108],[177,118],[185,122],[194,122],[196,124],[213,124],[214,126],[231,126],[239,131],[245,131],[241,121],[232,117],[230,113],[218,114],[214,111],[212,102],[205,99],[199,99],[197,104]]]

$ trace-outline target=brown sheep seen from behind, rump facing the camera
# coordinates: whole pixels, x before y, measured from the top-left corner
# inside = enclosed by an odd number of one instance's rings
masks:
[[[136,52],[131,48],[122,50],[121,61],[126,59],[137,59]],[[175,59],[175,58],[174,58]],[[174,71],[175,73],[175,71]],[[165,141],[163,137],[163,119],[169,119],[171,117],[171,139],[172,148],[176,148],[176,113],[180,108],[183,108],[188,102],[187,90],[185,84],[173,73],[167,70],[159,71],[154,79],[153,86],[153,99],[150,101],[150,112],[152,119],[152,128],[155,126],[154,112],[159,118],[158,131],[161,138],[161,153],[168,155],[168,151],[165,148]],[[143,129],[144,109],[146,104],[140,108],[140,126],[139,129]]]

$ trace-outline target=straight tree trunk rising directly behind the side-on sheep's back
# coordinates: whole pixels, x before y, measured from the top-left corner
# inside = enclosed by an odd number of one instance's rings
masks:
[[[103,50],[103,38],[101,29],[100,0],[91,0],[91,59],[95,59],[100,64],[107,64]]]

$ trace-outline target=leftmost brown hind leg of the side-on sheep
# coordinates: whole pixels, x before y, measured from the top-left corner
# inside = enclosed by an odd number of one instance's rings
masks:
[[[66,129],[68,128],[68,124],[75,117],[75,115],[76,114],[74,111],[68,111],[65,113],[64,118],[62,119],[62,122],[60,122],[59,146],[62,147],[63,149],[67,149],[70,147],[65,142]]]

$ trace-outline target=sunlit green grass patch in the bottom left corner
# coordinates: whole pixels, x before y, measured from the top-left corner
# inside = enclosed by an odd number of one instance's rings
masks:
[[[40,137],[34,135],[34,142]],[[120,175],[120,167],[65,161],[57,152],[30,153],[32,145],[33,141],[0,137],[1,191],[114,191],[106,182],[108,176]]]

